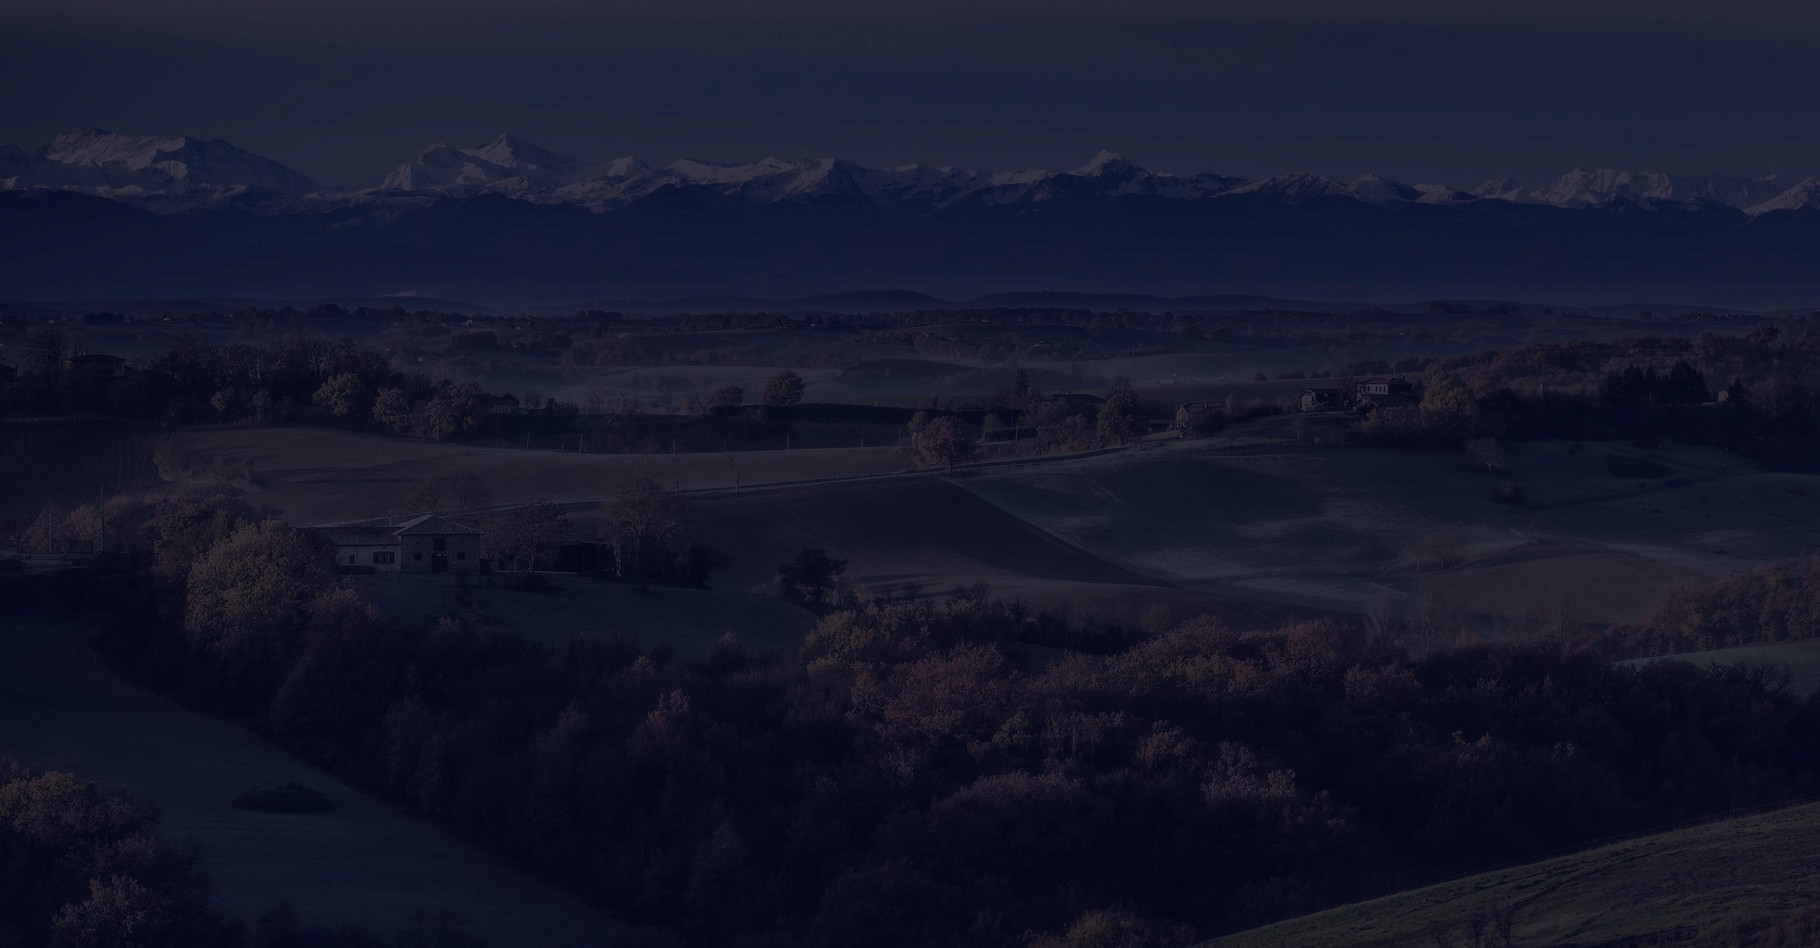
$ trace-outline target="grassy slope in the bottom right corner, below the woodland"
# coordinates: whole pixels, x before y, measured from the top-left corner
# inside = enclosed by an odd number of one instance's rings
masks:
[[[1700,944],[1733,917],[1813,904],[1820,804],[1633,839],[1228,935],[1218,948],[1432,946],[1481,910],[1512,913],[1512,943]]]

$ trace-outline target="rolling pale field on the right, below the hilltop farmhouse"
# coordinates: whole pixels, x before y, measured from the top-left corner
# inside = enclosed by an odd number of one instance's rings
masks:
[[[1507,446],[1509,471],[1456,451],[1210,440],[983,469],[956,482],[1136,573],[1223,599],[1405,615],[1634,619],[1676,582],[1820,542],[1820,479],[1769,475],[1722,451],[1663,448],[1687,480],[1605,469],[1625,446]],[[1512,480],[1531,508],[1498,504]]]

